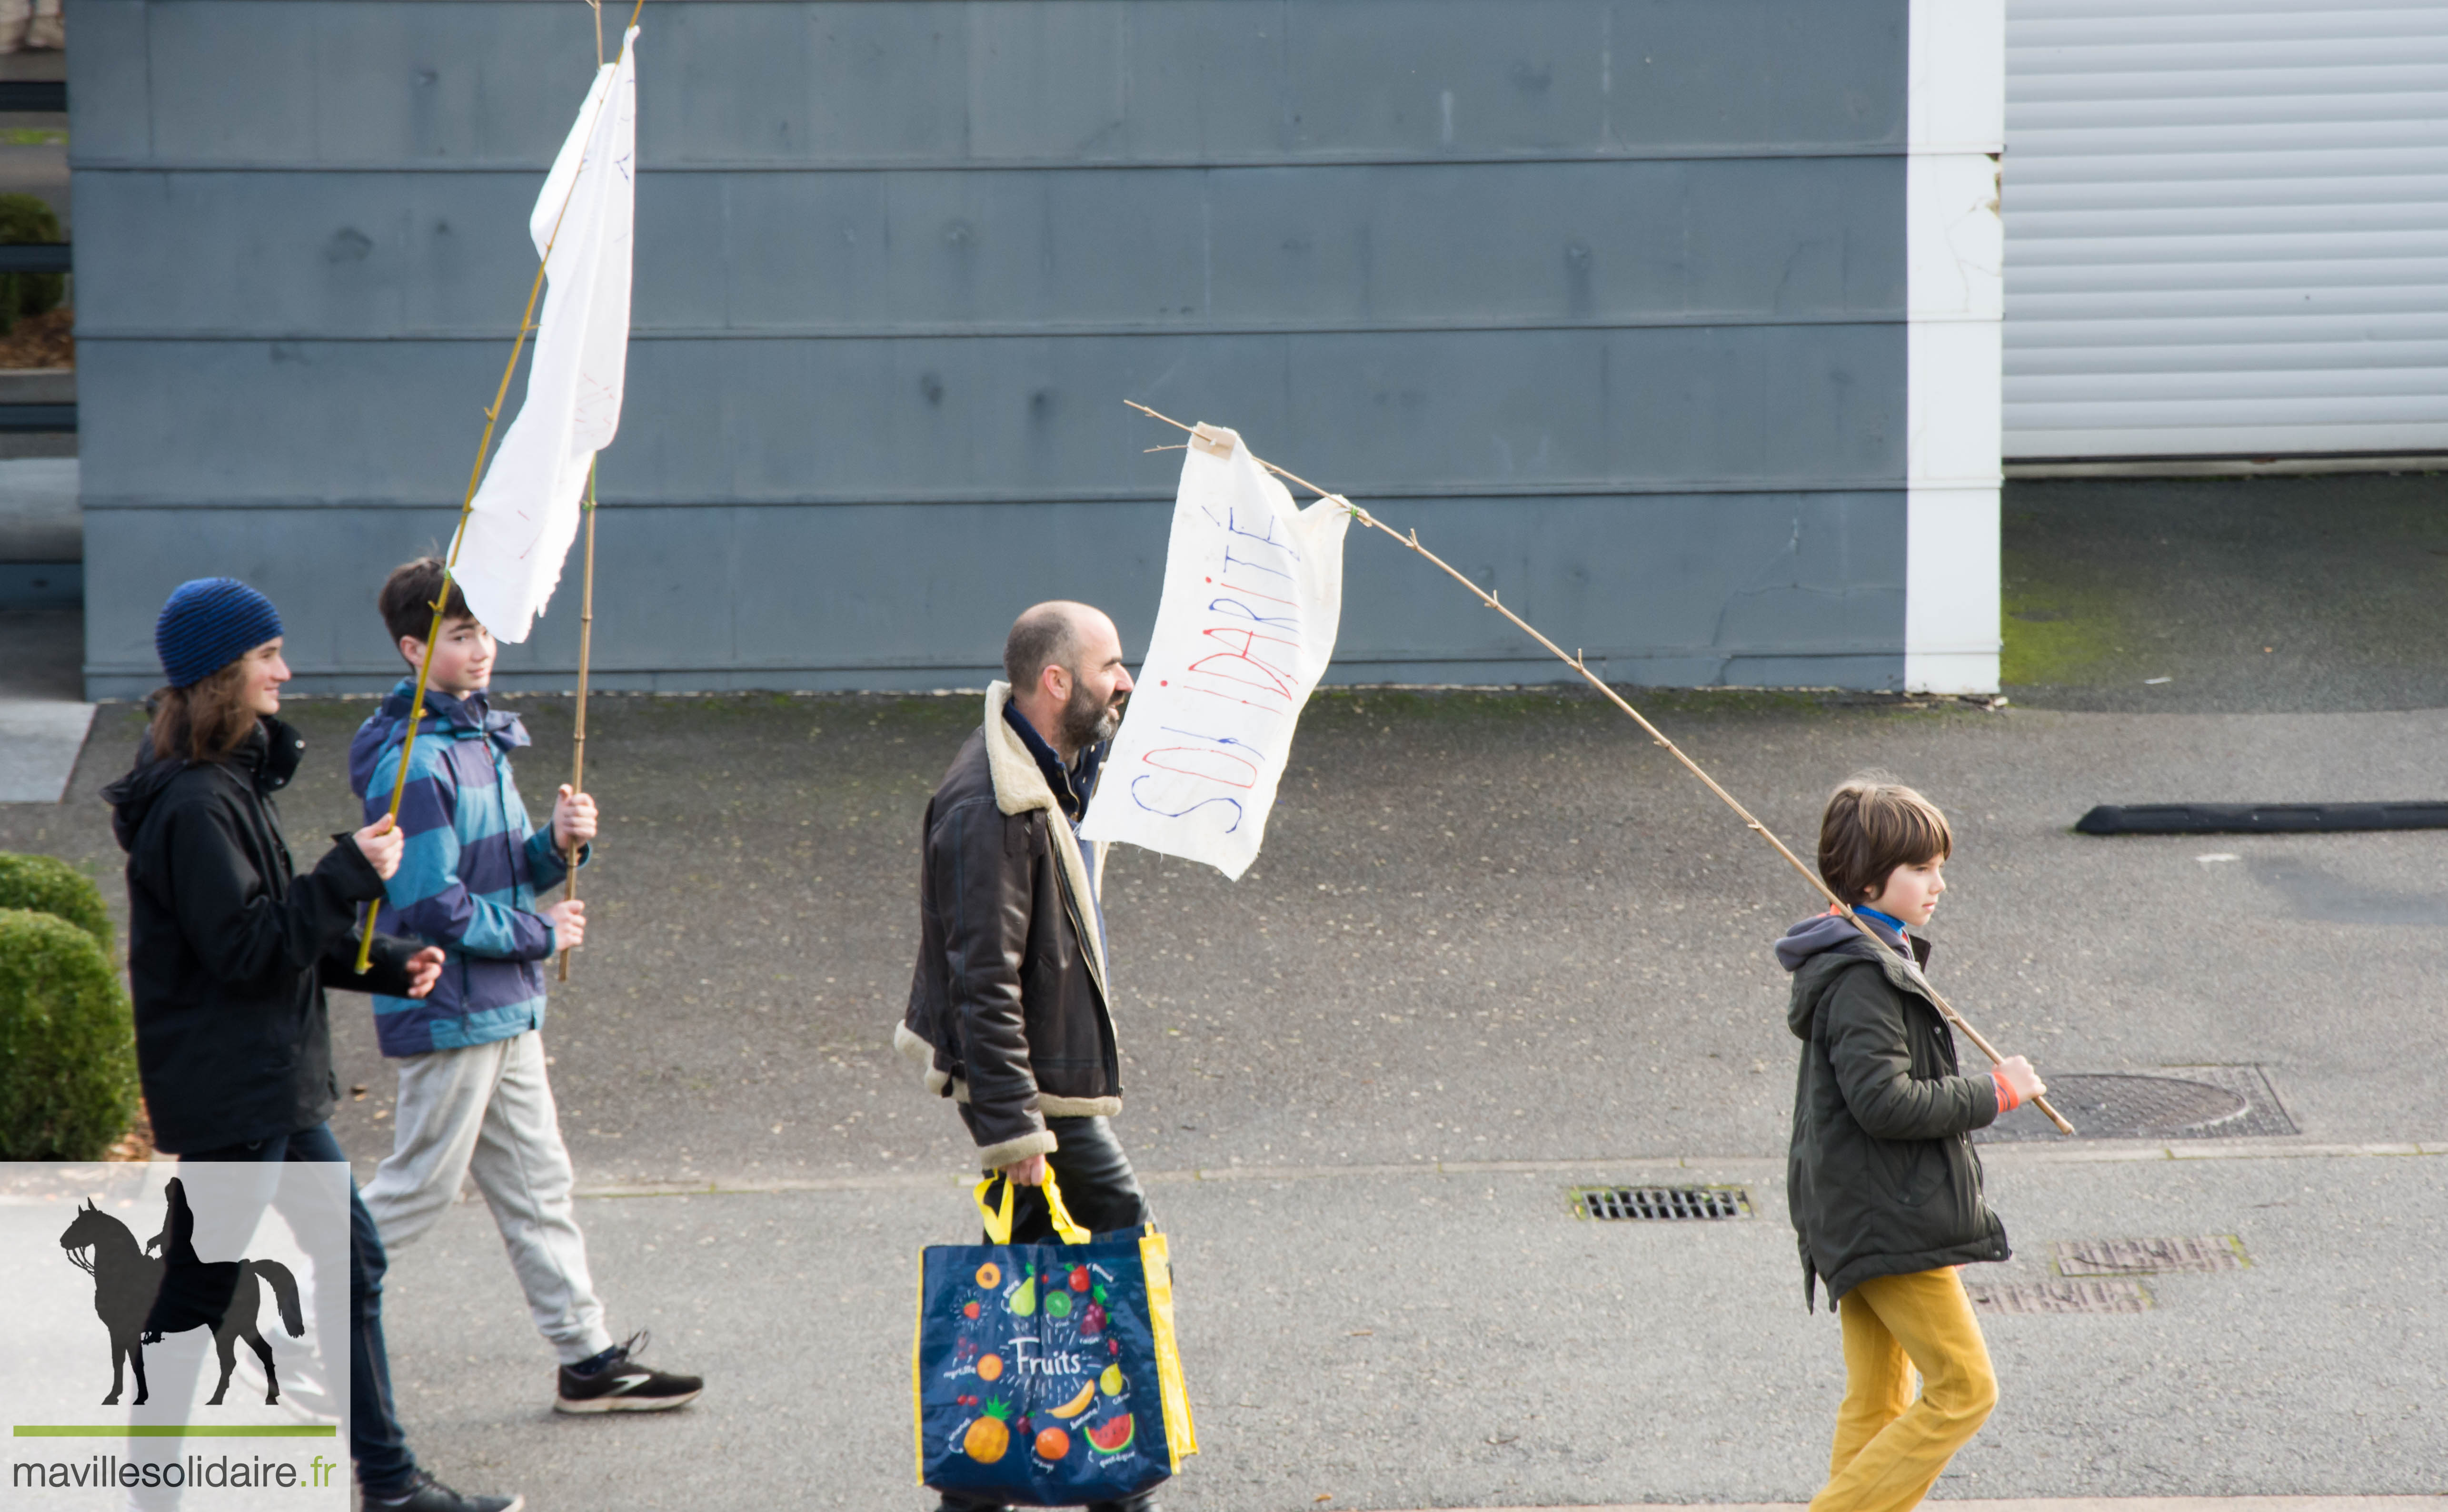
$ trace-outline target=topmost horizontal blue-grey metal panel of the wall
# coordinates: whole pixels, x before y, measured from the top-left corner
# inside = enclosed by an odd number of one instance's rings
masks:
[[[81,161],[541,169],[583,93],[570,5],[132,7],[144,132]],[[871,0],[668,5],[659,164],[1307,161],[1890,147],[1902,0]],[[612,29],[617,22],[607,22]],[[86,34],[78,34],[86,46]],[[103,59],[95,59],[103,66]],[[91,69],[88,69],[91,73]],[[83,73],[81,73],[83,76]]]

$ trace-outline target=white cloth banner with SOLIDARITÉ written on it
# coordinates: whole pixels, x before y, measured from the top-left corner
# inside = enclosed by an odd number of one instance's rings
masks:
[[[1084,839],[1248,871],[1293,724],[1334,661],[1349,524],[1342,499],[1295,506],[1236,433],[1192,433],[1165,599]]]

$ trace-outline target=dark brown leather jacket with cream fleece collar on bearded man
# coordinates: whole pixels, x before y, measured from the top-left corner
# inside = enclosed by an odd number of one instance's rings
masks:
[[[1038,761],[1004,722],[1009,687],[925,807],[918,969],[894,1045],[928,1091],[967,1103],[984,1169],[1055,1147],[1048,1118],[1121,1111],[1094,905],[1102,847],[1072,837]]]

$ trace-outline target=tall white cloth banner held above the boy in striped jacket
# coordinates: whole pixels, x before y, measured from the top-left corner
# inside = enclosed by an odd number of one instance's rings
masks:
[[[561,585],[588,467],[619,431],[634,169],[636,27],[629,27],[619,61],[597,69],[526,223],[546,276],[526,401],[492,453],[450,568],[468,612],[502,641],[524,641]]]

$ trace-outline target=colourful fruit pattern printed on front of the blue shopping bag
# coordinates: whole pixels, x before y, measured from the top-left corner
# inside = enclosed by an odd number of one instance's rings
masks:
[[[962,1277],[960,1338],[942,1380],[960,1382],[947,1436],[955,1453],[979,1466],[1026,1448],[1043,1466],[1075,1453],[1097,1463],[1138,1453],[1131,1380],[1114,1358],[1102,1265],[1067,1265],[1004,1275],[999,1265]],[[1053,1419],[1038,1424],[1038,1417]]]

